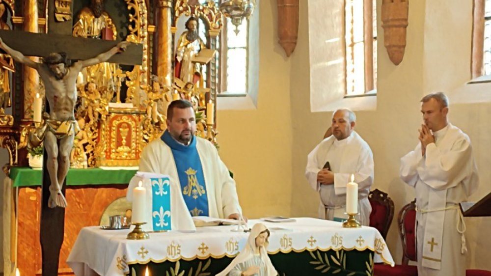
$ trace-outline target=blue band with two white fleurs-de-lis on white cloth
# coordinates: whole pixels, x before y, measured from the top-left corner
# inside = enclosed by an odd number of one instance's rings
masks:
[[[150,178],[152,184],[152,225],[154,231],[170,230],[170,180]]]

